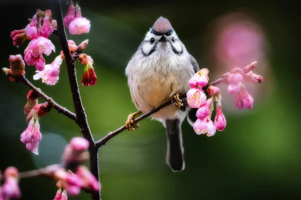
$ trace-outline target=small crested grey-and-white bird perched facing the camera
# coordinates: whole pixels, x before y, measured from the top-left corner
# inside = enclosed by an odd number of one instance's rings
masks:
[[[174,172],[185,169],[182,123],[186,116],[190,125],[197,119],[197,109],[189,107],[180,95],[190,89],[188,81],[199,69],[171,22],[163,16],[146,32],[125,68],[131,99],[137,108],[127,117],[128,130],[139,126],[134,122],[135,116],[172,101],[150,118],[162,122],[166,128],[166,162]]]

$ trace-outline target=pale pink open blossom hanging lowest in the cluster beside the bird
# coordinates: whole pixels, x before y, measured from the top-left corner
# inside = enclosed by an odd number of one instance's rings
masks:
[[[216,132],[213,121],[208,117],[205,117],[204,119],[198,118],[193,124],[193,129],[197,134],[207,133],[207,136],[213,136]]]

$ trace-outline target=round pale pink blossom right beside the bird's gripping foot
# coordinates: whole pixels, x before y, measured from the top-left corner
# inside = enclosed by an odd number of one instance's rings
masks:
[[[198,88],[191,88],[186,93],[187,103],[190,107],[198,108],[206,102],[206,94]]]

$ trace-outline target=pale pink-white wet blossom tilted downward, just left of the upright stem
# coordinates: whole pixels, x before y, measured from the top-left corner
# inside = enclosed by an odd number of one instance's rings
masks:
[[[54,85],[59,79],[60,66],[62,64],[62,55],[58,55],[51,64],[46,64],[42,71],[37,70],[34,80],[42,79],[49,85]]]

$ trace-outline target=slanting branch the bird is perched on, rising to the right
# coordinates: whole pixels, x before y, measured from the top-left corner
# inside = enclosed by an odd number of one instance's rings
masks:
[[[209,85],[217,85],[219,83],[225,82],[227,78],[228,78],[228,76],[220,78],[220,79],[218,79],[216,81],[213,81],[213,82],[209,83],[206,87],[203,88],[204,91],[206,91],[206,89],[207,89],[207,87]],[[180,96],[180,98],[181,99],[186,98],[186,93],[182,94]],[[134,119],[134,121],[135,122],[141,121],[142,119],[144,119],[144,118],[146,118],[146,117],[154,114],[155,112],[158,112],[159,110],[161,110],[162,108],[170,105],[171,103],[172,103],[171,100],[166,101],[165,103],[159,105],[158,107],[156,107],[156,108],[154,108],[154,109],[152,109],[152,110],[150,110],[148,112],[145,112],[144,114],[142,114],[138,118]],[[109,132],[106,136],[104,136],[103,138],[101,138],[101,139],[99,139],[98,141],[95,142],[96,147],[99,148],[100,146],[104,145],[108,140],[110,140],[111,138],[113,138],[114,136],[116,136],[117,134],[119,134],[120,132],[122,132],[123,130],[126,130],[125,125],[121,126],[120,128],[118,128],[118,129],[116,129],[116,130],[114,130],[112,132]]]

